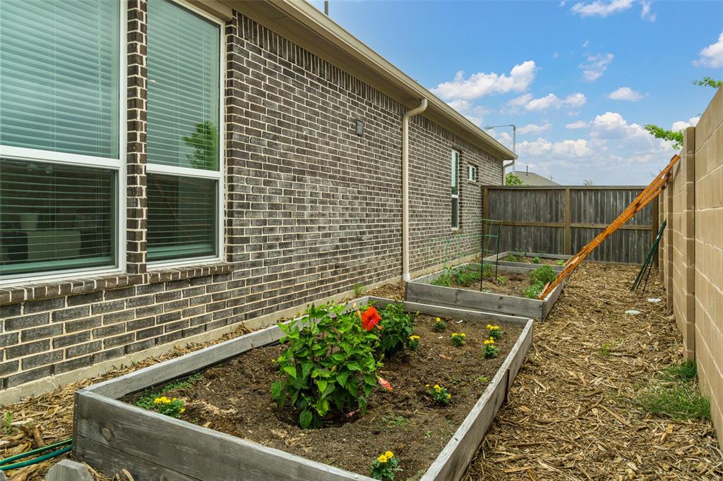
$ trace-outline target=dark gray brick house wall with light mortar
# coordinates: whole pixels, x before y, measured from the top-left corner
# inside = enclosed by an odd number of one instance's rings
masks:
[[[406,107],[240,13],[226,22],[226,262],[147,268],[145,11],[129,0],[127,274],[0,289],[2,389],[401,274]],[[481,188],[467,165],[480,183],[501,183],[502,168],[423,116],[410,133],[414,272],[476,252]]]

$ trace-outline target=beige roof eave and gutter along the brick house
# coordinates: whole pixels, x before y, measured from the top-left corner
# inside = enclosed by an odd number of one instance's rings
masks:
[[[214,14],[226,14],[227,20],[231,18],[231,10],[228,9],[231,7],[330,61],[408,108],[418,107],[422,97],[427,98],[429,105],[422,116],[498,159],[517,158],[510,149],[306,1],[195,0],[194,3]]]

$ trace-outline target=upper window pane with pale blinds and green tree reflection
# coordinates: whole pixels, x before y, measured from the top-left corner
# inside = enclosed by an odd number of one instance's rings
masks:
[[[148,2],[150,164],[218,170],[219,26],[168,0]]]

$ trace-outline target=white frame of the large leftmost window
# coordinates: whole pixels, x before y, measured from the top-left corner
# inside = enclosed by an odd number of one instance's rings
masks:
[[[119,274],[126,268],[126,154],[127,154],[127,45],[128,45],[128,6],[127,0],[118,2],[119,8],[119,65],[118,65],[118,158],[95,157],[93,155],[54,152],[51,150],[31,149],[0,144],[0,157],[28,162],[45,162],[59,165],[76,165],[78,167],[106,168],[116,173],[116,225],[114,248],[115,265],[95,268],[59,269],[41,274],[14,274],[0,280],[0,286],[32,282],[48,282],[54,280],[77,279],[79,277]]]

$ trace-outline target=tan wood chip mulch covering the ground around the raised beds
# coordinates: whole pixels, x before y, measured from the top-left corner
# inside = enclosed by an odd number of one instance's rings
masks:
[[[646,293],[628,292],[637,271],[586,263],[573,274],[551,316],[536,324],[534,345],[466,481],[723,479],[723,457],[709,421],[652,417],[630,402],[636,386],[682,360],[680,333],[664,311],[655,273]],[[401,298],[403,285],[385,285],[369,295]],[[641,313],[625,314],[628,309]],[[243,333],[179,347],[1,407],[12,411],[14,432],[2,434],[0,457],[71,436],[77,389]],[[59,459],[9,472],[9,479],[43,480]],[[129,481],[122,475],[115,479]]]

